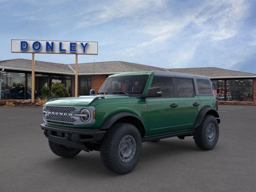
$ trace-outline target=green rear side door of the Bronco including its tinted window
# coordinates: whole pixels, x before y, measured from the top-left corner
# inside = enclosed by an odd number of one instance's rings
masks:
[[[174,82],[180,103],[180,131],[193,129],[201,110],[199,97],[195,94],[194,80],[192,78],[175,78]]]

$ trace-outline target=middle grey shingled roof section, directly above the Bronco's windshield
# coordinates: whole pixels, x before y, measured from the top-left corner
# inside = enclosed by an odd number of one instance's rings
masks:
[[[75,64],[70,64],[75,70]],[[141,72],[141,71],[166,71],[164,68],[129,63],[124,61],[107,61],[97,63],[79,63],[79,74],[115,74],[124,72]]]

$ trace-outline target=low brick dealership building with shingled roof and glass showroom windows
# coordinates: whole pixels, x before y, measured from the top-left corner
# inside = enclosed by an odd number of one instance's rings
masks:
[[[31,60],[12,59],[0,61],[0,103],[6,100],[31,98]],[[256,74],[205,67],[164,69],[124,61],[108,61],[78,64],[78,95],[97,92],[109,75],[139,71],[172,71],[209,76],[217,84],[216,99],[221,103],[256,105]],[[35,98],[40,96],[42,86],[53,83],[65,85],[69,94],[75,96],[75,64],[35,61]]]

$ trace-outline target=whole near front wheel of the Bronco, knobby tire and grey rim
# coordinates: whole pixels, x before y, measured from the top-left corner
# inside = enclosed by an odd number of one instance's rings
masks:
[[[100,144],[100,157],[105,167],[119,174],[132,171],[141,154],[141,136],[138,129],[128,123],[112,125]]]

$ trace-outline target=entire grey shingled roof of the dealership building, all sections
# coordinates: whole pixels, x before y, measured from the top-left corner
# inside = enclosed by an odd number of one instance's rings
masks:
[[[31,60],[28,59],[11,59],[0,61],[0,68],[31,71]],[[75,74],[75,64],[61,64],[51,63],[45,61],[35,61],[36,72],[57,73],[57,74]],[[256,74],[246,73],[241,71],[234,71],[216,67],[202,67],[202,68],[175,68],[164,69],[153,67],[149,65],[142,65],[137,63],[129,63],[124,61],[107,61],[96,63],[79,63],[79,75],[93,75],[93,74],[116,74],[127,72],[143,72],[143,71],[170,71],[178,73],[189,73],[195,75],[209,76],[210,78],[244,78],[256,77]]]

